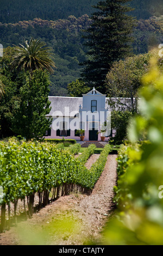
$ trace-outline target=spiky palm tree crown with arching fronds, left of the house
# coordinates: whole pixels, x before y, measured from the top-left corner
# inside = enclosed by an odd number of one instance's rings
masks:
[[[30,39],[24,41],[25,46],[21,45],[15,47],[15,54],[11,60],[11,67],[18,70],[26,70],[32,75],[34,70],[47,70],[52,73],[55,68],[53,60],[50,58],[51,47],[47,47],[44,42],[40,40]]]

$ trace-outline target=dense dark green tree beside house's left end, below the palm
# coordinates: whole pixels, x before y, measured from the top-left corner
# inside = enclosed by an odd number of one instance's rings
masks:
[[[29,139],[41,139],[49,129],[52,119],[46,118],[50,112],[48,100],[48,75],[43,71],[33,71],[33,76],[19,90],[18,100],[12,110],[12,131]]]

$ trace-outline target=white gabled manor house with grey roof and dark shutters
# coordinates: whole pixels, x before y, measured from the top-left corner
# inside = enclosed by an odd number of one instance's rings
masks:
[[[112,136],[110,111],[105,94],[93,88],[83,97],[49,96],[51,112],[47,118],[53,118],[51,129],[45,138],[76,139],[80,141],[78,130],[84,130],[84,141],[105,141]],[[105,132],[101,133],[101,130]]]

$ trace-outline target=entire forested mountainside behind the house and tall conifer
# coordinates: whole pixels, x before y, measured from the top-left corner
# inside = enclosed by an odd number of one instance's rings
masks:
[[[163,17],[160,16],[163,14],[160,8],[162,1],[131,2],[132,7],[136,7],[133,15],[137,16],[133,32],[134,54],[146,53],[151,47],[163,42]],[[31,37],[46,42],[52,47],[56,65],[51,75],[49,95],[67,96],[67,84],[80,77],[83,67],[79,64],[86,60],[83,30],[89,27],[89,15],[93,11],[91,5],[97,2],[43,0],[38,4],[35,0],[7,0],[1,4],[0,10],[0,43],[4,48],[13,47]]]

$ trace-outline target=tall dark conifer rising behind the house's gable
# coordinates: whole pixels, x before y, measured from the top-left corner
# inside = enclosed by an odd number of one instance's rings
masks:
[[[130,0],[106,0],[98,2],[98,9],[91,17],[92,23],[85,31],[88,60],[83,63],[82,78],[89,87],[95,86],[105,93],[105,77],[116,61],[131,52],[134,18],[127,15]]]

